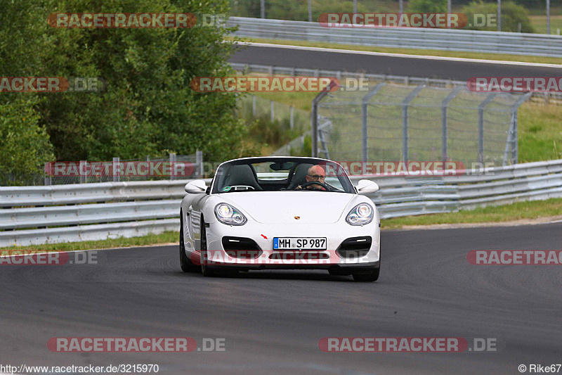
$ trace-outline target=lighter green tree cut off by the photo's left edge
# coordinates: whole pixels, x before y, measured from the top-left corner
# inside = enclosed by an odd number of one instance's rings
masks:
[[[38,1],[4,1],[0,12],[0,75],[37,75],[45,19]],[[0,184],[25,184],[54,160],[53,146],[39,122],[40,94],[0,92]]]

